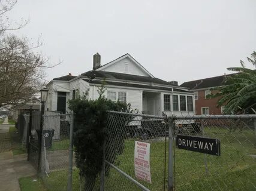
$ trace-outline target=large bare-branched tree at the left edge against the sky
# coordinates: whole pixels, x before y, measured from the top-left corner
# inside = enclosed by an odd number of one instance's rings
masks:
[[[16,2],[0,0],[0,107],[24,103],[38,93],[44,85],[44,68],[50,67],[48,59],[36,51],[42,45],[39,41],[34,45],[28,38],[6,35],[7,30],[17,30],[28,23],[22,19],[13,24],[6,16]]]

